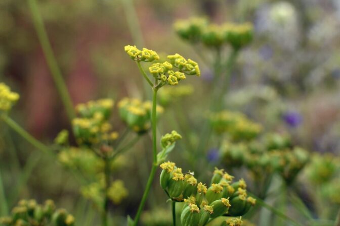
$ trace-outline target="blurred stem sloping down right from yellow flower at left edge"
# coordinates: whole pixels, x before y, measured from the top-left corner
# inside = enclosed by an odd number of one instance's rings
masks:
[[[24,139],[26,139],[30,144],[32,144],[34,147],[39,149],[40,151],[43,151],[45,153],[49,152],[49,147],[45,144],[41,143],[37,139],[35,139],[32,135],[30,135],[27,131],[25,131],[21,126],[19,126],[15,121],[13,121],[9,116],[2,114],[0,115],[0,118],[14,131],[16,131],[20,136],[22,136]]]

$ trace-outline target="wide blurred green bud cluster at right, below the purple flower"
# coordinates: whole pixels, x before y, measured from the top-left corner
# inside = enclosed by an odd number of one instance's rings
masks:
[[[291,146],[287,137],[270,134],[263,140],[231,143],[221,147],[223,162],[229,166],[245,166],[254,176],[279,173],[287,182],[292,181],[309,160],[308,152]]]

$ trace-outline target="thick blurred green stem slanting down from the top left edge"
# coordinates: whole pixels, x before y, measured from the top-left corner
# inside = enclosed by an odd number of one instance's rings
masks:
[[[67,91],[65,81],[58,67],[57,60],[55,58],[51,43],[49,41],[47,32],[45,30],[43,19],[41,18],[41,15],[39,13],[36,0],[27,0],[27,1],[28,1],[31,14],[32,14],[35,31],[37,33],[41,48],[43,48],[48,67],[52,74],[52,78],[55,82],[55,85],[57,87],[61,100],[65,106],[67,116],[69,120],[71,121],[73,118],[75,118],[75,112],[74,112],[72,100]]]

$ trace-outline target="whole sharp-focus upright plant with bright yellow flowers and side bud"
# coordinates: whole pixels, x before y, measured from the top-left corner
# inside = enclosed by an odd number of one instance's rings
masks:
[[[141,203],[138,207],[136,217],[134,220],[129,217],[129,225],[137,225],[141,217],[146,199],[148,197],[153,179],[155,177],[157,166],[166,158],[168,153],[174,148],[175,145],[175,143],[172,142],[172,145],[166,145],[165,147],[163,146],[163,149],[159,153],[157,151],[157,92],[165,85],[178,85],[179,82],[186,79],[186,76],[188,75],[200,76],[201,74],[198,64],[195,61],[191,59],[186,60],[184,57],[182,57],[182,55],[176,53],[174,55],[168,55],[168,61],[153,63],[149,67],[150,76],[148,76],[147,73],[144,71],[141,62],[151,63],[154,61],[159,61],[160,58],[157,52],[147,48],[143,48],[142,50],[140,50],[136,46],[132,45],[126,45],[124,47],[124,50],[126,53],[128,53],[130,58],[136,62],[142,76],[152,89],[151,126],[153,162],[149,179],[146,184]],[[152,82],[149,77],[153,77],[154,82]],[[176,132],[173,132],[171,135],[165,136],[171,136],[171,140],[174,139],[174,141],[180,138],[180,135]]]

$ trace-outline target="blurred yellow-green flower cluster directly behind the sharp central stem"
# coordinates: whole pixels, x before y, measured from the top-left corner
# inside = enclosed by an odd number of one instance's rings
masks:
[[[136,98],[123,98],[118,103],[119,115],[126,125],[137,133],[144,133],[150,129],[151,108],[150,101],[142,102]],[[163,108],[157,105],[157,113],[161,114]],[[158,115],[157,114],[157,115]]]

